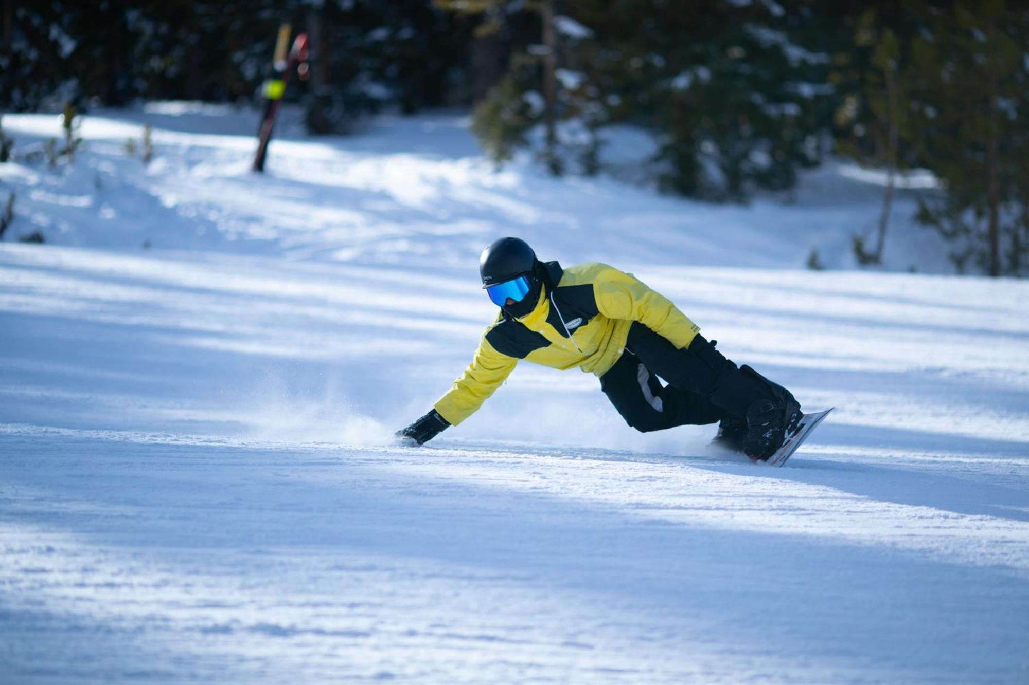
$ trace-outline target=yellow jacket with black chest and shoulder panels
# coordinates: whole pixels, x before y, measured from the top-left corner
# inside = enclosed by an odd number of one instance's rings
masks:
[[[688,348],[700,327],[667,297],[632,274],[590,261],[562,269],[545,265],[536,308],[514,319],[501,311],[486,329],[471,364],[433,405],[458,425],[500,387],[520,359],[553,368],[580,367],[598,376],[622,356],[629,326],[639,321],[677,348]]]

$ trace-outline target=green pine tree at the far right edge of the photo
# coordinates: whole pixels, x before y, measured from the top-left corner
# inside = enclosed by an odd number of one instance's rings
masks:
[[[1005,0],[931,8],[914,45],[913,130],[943,183],[919,218],[952,241],[960,271],[1019,274],[1027,249],[1029,12]]]

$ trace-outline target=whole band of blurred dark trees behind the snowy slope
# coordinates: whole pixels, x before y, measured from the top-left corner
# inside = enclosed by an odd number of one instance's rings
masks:
[[[309,130],[459,107],[503,164],[604,168],[604,132],[648,132],[649,177],[717,202],[788,191],[843,155],[893,188],[929,170],[919,218],[960,269],[1013,274],[1029,245],[1029,6],[1015,0],[70,0],[3,3],[0,108],[250,102],[280,24],[307,31]]]

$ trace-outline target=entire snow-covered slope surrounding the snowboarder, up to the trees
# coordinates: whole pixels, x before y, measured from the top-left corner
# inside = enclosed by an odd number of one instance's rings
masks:
[[[150,116],[145,167],[121,144]],[[881,186],[846,165],[709,206],[494,173],[433,115],[287,133],[257,176],[253,123],[102,112],[73,167],[0,165],[4,682],[1029,678],[1029,286],[948,275],[919,190],[887,257],[936,273],[859,272]],[[523,364],[395,445],[467,364],[506,233],[633,271],[836,410],[773,469]]]

